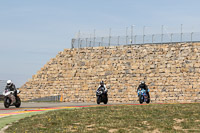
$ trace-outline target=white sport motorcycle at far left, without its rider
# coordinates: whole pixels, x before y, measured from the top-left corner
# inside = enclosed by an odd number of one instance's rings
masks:
[[[17,90],[17,94],[19,94],[20,91]],[[9,108],[10,106],[15,106],[16,108],[19,108],[21,105],[21,99],[17,95],[14,96],[14,91],[10,91],[9,89],[6,89],[3,92],[4,95],[4,107]]]

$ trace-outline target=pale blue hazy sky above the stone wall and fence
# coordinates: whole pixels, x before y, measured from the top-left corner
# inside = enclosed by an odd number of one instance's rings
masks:
[[[0,80],[21,87],[80,31],[200,31],[199,0],[0,0]],[[116,32],[115,32],[116,31]],[[120,34],[119,33],[119,34]],[[106,35],[105,35],[106,36]]]

